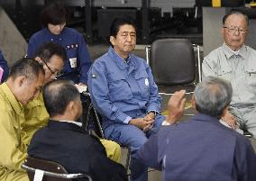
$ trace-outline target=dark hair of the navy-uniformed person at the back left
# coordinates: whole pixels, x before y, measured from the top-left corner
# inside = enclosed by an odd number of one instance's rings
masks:
[[[47,27],[49,23],[53,25],[66,23],[67,16],[68,13],[64,5],[59,2],[53,2],[42,10],[41,24],[43,27]]]

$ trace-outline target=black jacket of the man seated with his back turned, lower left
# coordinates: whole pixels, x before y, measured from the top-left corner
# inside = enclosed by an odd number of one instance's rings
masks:
[[[106,157],[100,141],[74,123],[50,121],[35,132],[28,154],[58,162],[70,173],[87,173],[96,181],[127,180],[125,168]]]

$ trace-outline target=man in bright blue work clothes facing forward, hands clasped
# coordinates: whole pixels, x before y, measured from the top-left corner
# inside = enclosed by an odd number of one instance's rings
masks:
[[[161,97],[151,68],[131,52],[136,30],[130,17],[117,18],[110,28],[112,47],[88,71],[88,87],[103,117],[105,137],[132,150],[131,180],[146,181],[147,167],[136,160],[137,150],[159,130]]]

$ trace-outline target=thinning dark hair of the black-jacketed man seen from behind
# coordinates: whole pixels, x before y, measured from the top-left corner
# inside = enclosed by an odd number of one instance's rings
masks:
[[[70,80],[53,80],[43,87],[43,101],[50,117],[65,113],[68,104],[80,98],[78,88]]]

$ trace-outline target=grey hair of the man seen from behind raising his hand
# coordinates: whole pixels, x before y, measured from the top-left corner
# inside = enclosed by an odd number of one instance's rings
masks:
[[[196,109],[199,113],[220,116],[231,103],[232,94],[229,82],[218,77],[206,77],[195,89]]]

